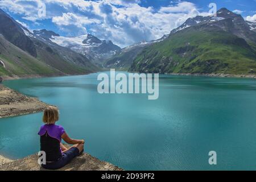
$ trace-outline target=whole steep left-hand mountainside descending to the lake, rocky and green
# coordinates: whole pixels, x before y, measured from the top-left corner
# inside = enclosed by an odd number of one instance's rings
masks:
[[[49,44],[0,10],[0,75],[73,75],[98,70],[85,56]],[[3,66],[4,65],[4,66]]]

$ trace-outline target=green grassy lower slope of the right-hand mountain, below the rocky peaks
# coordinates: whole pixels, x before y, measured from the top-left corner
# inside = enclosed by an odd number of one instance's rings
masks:
[[[256,71],[256,52],[225,31],[187,28],[145,48],[129,71],[248,74]]]

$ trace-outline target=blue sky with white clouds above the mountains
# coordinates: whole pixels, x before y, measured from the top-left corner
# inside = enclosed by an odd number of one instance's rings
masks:
[[[0,0],[0,8],[30,30],[90,33],[125,47],[169,34],[189,17],[208,15],[211,2],[256,20],[256,0]]]

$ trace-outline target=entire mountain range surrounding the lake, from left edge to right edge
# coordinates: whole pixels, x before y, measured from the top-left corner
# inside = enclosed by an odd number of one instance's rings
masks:
[[[81,75],[102,69],[144,73],[255,75],[256,22],[222,8],[158,40],[120,48],[91,34],[30,31],[0,9],[0,76]]]

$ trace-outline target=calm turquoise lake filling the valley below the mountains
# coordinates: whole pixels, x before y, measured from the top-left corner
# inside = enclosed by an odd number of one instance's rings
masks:
[[[98,73],[4,84],[60,110],[85,151],[126,170],[256,169],[256,80],[159,76],[159,98],[99,94]],[[0,154],[39,151],[42,113],[0,119]],[[217,165],[208,163],[217,152]]]

